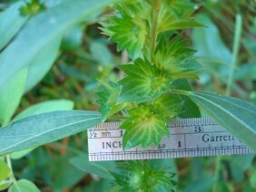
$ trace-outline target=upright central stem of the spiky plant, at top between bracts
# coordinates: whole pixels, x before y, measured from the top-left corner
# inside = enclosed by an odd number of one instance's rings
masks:
[[[160,1],[156,0],[153,2],[153,24],[151,29],[151,43],[150,43],[150,56],[151,60],[153,61],[153,54],[156,47],[156,41],[157,41],[157,28],[158,28],[158,15],[160,12]]]

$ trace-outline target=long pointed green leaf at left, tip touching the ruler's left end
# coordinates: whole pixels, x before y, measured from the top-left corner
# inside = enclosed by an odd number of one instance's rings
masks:
[[[98,112],[53,111],[16,120],[0,130],[0,155],[63,139],[100,123]]]

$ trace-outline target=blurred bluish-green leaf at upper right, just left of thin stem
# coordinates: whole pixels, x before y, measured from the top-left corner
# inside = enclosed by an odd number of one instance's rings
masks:
[[[198,61],[205,69],[211,69],[212,72],[226,77],[230,71],[228,66],[231,63],[231,51],[222,41],[219,29],[208,15],[198,14],[196,18],[199,22],[207,25],[207,28],[192,29],[193,48],[197,50],[195,56],[198,57]],[[204,77],[207,73],[208,76],[212,75],[209,72],[204,72]],[[209,77],[207,77],[207,81],[210,81]]]

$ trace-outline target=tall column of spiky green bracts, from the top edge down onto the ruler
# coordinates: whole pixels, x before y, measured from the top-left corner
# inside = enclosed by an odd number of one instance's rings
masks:
[[[176,80],[197,79],[201,69],[194,50],[177,33],[203,26],[191,17],[194,6],[189,0],[127,1],[116,5],[116,15],[102,23],[103,34],[132,59],[120,66],[126,77],[103,85],[98,94],[104,120],[118,110],[126,114],[123,149],[159,144],[162,136],[170,136],[168,120],[188,108],[172,88]]]

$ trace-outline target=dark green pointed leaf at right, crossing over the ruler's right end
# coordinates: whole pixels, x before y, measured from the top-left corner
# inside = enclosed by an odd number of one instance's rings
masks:
[[[190,97],[235,138],[256,151],[255,105],[211,92],[192,91]]]

